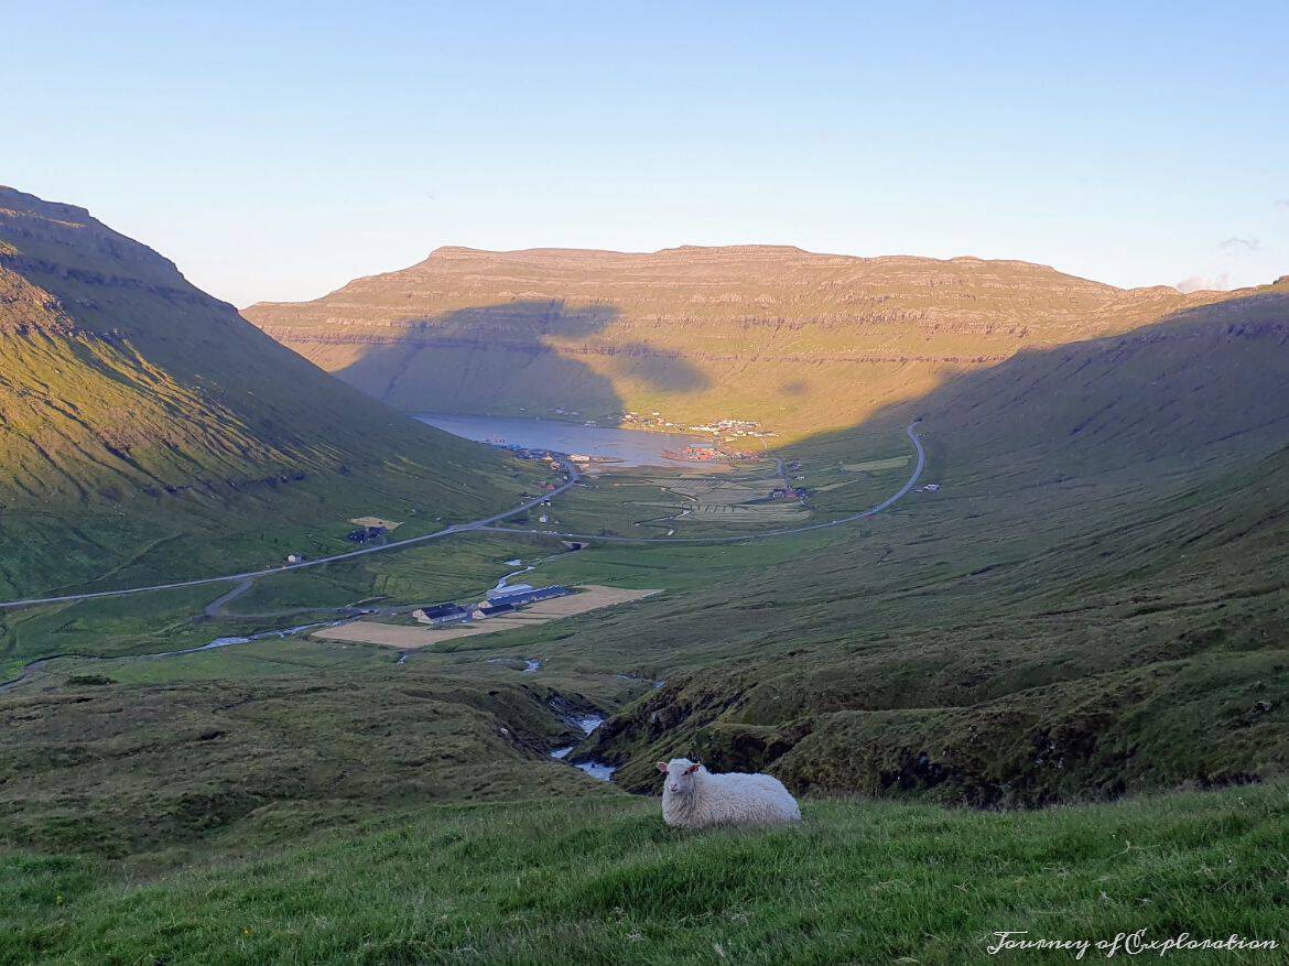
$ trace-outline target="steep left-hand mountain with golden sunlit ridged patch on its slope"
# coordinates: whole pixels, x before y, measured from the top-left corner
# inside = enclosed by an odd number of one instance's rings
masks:
[[[12,188],[0,357],[0,596],[143,558],[174,578],[263,562],[211,545],[237,529],[510,500],[491,452],[327,376],[84,209]]]

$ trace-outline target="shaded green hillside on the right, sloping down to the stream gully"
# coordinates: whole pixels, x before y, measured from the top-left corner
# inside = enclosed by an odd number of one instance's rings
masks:
[[[1289,773],[1286,346],[1277,287],[791,447],[809,486],[812,464],[923,415],[923,479],[944,486],[804,538],[791,581],[744,572],[684,613],[606,622],[624,659],[721,674],[648,668],[668,685],[579,753],[638,791],[687,755],[795,791],[974,806]],[[581,634],[561,647],[581,657]]]

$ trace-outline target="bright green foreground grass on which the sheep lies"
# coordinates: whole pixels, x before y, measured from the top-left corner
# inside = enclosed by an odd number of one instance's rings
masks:
[[[998,930],[1289,942],[1284,787],[803,815],[692,833],[623,796],[422,808],[160,877],[9,851],[0,962],[949,965],[990,961]]]

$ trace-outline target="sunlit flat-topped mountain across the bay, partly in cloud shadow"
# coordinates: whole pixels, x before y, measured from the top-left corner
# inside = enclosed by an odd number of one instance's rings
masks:
[[[856,425],[1017,352],[1210,298],[974,258],[446,247],[315,301],[244,314],[403,411],[657,411],[683,425],[749,419],[799,437]]]

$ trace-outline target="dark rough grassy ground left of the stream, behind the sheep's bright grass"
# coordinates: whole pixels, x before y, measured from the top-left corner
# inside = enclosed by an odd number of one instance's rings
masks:
[[[59,666],[39,692],[6,696],[4,840],[130,860],[205,848],[275,810],[321,823],[586,791],[590,779],[547,757],[581,737],[552,702],[608,703],[576,679],[478,657],[396,665],[373,648],[294,641],[93,670]],[[615,702],[642,687],[589,684]]]

